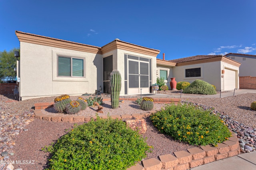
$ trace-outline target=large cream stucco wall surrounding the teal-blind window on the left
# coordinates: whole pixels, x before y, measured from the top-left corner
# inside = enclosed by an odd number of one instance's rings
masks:
[[[85,59],[85,77],[57,77],[57,55]],[[94,93],[103,86],[102,55],[20,42],[20,97],[22,100]]]

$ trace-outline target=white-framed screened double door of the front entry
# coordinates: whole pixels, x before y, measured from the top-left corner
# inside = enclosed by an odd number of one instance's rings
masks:
[[[128,59],[128,94],[149,93],[149,62]]]

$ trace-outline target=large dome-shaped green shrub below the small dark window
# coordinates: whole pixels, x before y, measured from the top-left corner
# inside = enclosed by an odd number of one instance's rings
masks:
[[[206,81],[195,80],[186,89],[183,90],[183,93],[215,95],[216,90],[214,90],[214,87],[212,87],[212,85]]]

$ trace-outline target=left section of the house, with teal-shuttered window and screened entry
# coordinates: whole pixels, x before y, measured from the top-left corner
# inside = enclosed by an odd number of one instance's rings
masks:
[[[103,47],[16,31],[20,41],[18,77],[22,100],[109,92],[109,75],[120,71],[120,95],[150,92],[160,52],[121,40]],[[141,90],[142,89],[142,90]]]

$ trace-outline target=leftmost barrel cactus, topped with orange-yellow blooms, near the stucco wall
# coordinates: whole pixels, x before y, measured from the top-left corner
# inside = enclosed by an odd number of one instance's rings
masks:
[[[71,99],[69,95],[61,95],[59,97],[56,97],[54,99],[54,109],[58,112],[58,113],[64,113],[65,109],[66,109],[66,105],[68,103],[70,103]]]

